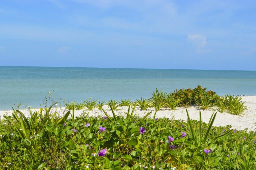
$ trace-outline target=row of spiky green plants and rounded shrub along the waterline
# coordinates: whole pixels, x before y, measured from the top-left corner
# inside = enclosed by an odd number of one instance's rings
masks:
[[[168,109],[171,110],[177,109],[177,107],[189,107],[191,105],[197,106],[200,109],[209,109],[211,107],[216,107],[216,110],[219,112],[228,112],[234,115],[240,115],[243,113],[248,107],[244,105],[245,102],[241,101],[240,96],[231,96],[229,94],[225,94],[225,96],[219,96],[216,92],[211,90],[207,91],[206,88],[202,88],[200,85],[194,89],[176,89],[172,93],[163,92],[162,90],[156,89],[152,93],[152,97],[150,99],[137,99],[134,103],[130,100],[122,99],[120,102],[115,100],[110,100],[106,103],[109,107],[111,106],[114,110],[116,110],[119,106],[129,106],[136,105],[139,106],[142,110],[146,110],[147,108],[153,107],[156,111],[160,109]],[[85,105],[84,105],[85,103]],[[75,104],[77,110],[78,108],[83,109],[84,107],[87,110],[92,110],[95,107],[98,107],[101,110],[104,102],[97,103],[96,100],[86,100],[84,103]],[[65,108],[68,110],[72,110],[73,103],[65,103]]]

